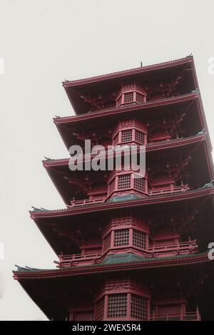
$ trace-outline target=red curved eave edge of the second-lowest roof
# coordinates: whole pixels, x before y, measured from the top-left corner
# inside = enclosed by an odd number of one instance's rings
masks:
[[[182,200],[192,200],[198,197],[207,197],[214,195],[214,187],[204,187],[199,190],[191,190],[180,193],[173,193],[170,195],[159,195],[152,197],[145,197],[141,200],[129,200],[123,202],[103,202],[97,205],[87,205],[86,207],[78,206],[78,207],[69,207],[63,210],[39,210],[30,211],[31,218],[33,220],[42,219],[46,217],[63,217],[63,216],[72,216],[72,215],[81,215],[86,213],[93,212],[104,212],[109,210],[121,210],[125,208],[134,208],[139,206],[146,205],[160,205],[163,203],[170,203]]]

